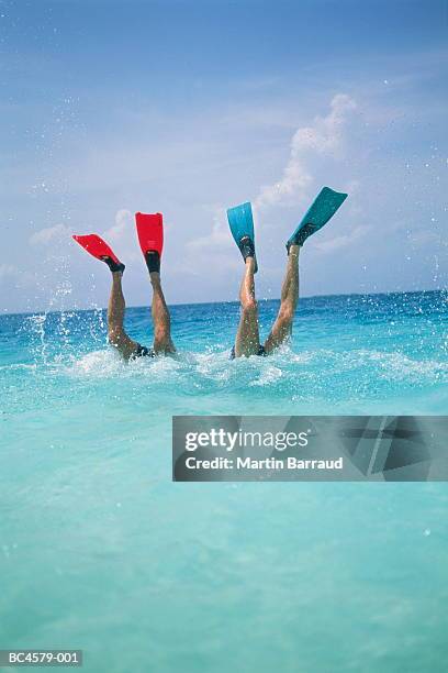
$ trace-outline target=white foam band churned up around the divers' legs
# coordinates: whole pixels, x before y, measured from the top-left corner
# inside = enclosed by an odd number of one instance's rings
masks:
[[[54,362],[61,365],[61,362]],[[27,365],[35,366],[35,365]],[[377,380],[403,383],[434,383],[448,379],[448,363],[437,360],[414,360],[400,352],[317,350],[293,353],[289,347],[268,357],[228,358],[228,351],[205,353],[181,352],[175,356],[139,357],[125,363],[112,349],[93,351],[72,360],[66,371],[76,377],[121,378],[148,377],[168,385],[190,388],[215,384],[220,388],[296,386],[310,388],[327,385],[325,382],[338,373],[350,372],[355,386],[372,377]],[[289,384],[288,384],[289,382]],[[331,386],[331,382],[328,382]]]

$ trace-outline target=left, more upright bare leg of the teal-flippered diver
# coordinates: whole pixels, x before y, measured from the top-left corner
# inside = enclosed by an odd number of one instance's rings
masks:
[[[246,268],[239,288],[239,301],[242,302],[242,317],[235,339],[235,357],[255,355],[260,347],[258,331],[258,307],[255,299],[255,261],[254,257],[246,258]]]

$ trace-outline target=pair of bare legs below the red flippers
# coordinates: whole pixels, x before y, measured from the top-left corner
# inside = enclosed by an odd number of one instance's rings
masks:
[[[126,334],[123,327],[126,305],[122,288],[122,272],[112,272],[112,288],[108,307],[108,335],[109,342],[119,353],[125,360],[130,360],[130,357],[139,354],[141,346]],[[149,279],[153,286],[154,353],[156,355],[175,353],[169,310],[160,285],[160,274],[152,272]]]

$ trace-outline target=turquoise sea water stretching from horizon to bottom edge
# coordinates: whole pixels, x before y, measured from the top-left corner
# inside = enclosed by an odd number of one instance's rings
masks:
[[[0,647],[89,672],[446,671],[445,484],[173,484],[173,413],[446,413],[447,295],[301,300],[228,361],[236,304],[123,364],[103,311],[0,318]],[[278,308],[260,302],[266,335]],[[127,311],[149,344],[147,308]]]

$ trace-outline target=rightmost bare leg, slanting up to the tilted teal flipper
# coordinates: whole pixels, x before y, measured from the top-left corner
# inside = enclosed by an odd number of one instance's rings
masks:
[[[299,300],[299,245],[291,245],[287,273],[281,288],[280,309],[269,336],[265,342],[266,353],[272,353],[291,334],[295,308]]]

